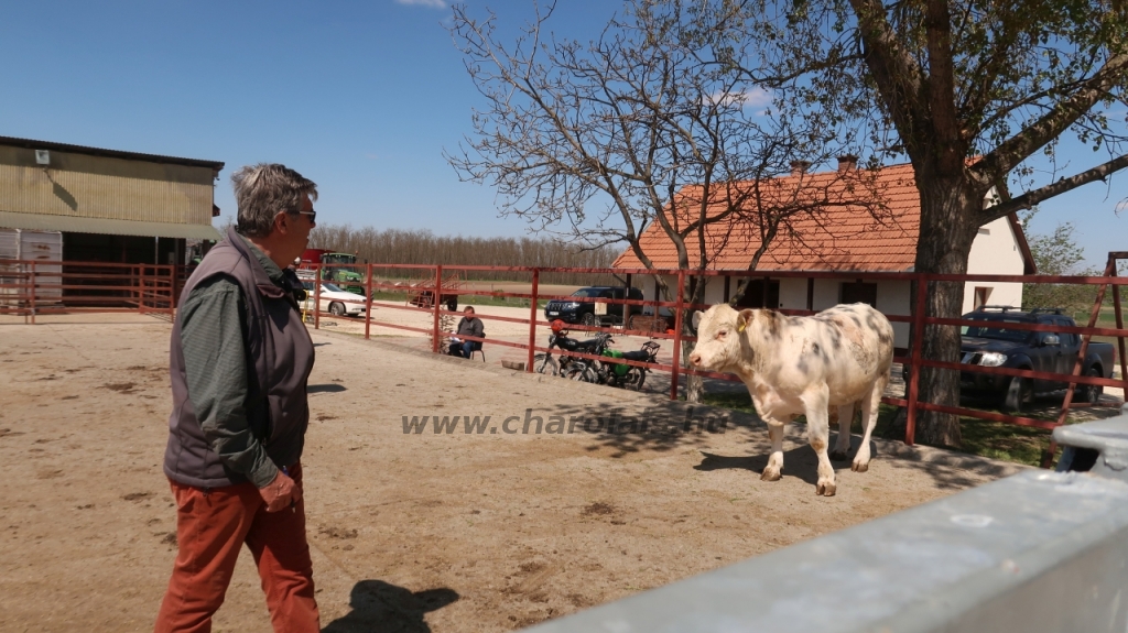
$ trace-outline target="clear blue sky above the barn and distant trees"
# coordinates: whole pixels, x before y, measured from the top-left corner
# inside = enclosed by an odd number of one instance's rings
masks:
[[[481,15],[486,3],[469,6]],[[553,30],[587,39],[618,6],[563,0]],[[531,0],[488,7],[503,27],[532,14]],[[526,234],[442,157],[481,106],[449,19],[443,0],[9,2],[0,135],[223,161],[226,215],[230,172],[270,161],[318,182],[328,223]],[[1086,150],[1066,155],[1096,162]],[[1126,197],[1128,175],[1089,185],[1043,204],[1032,228],[1076,223],[1087,259],[1102,264],[1128,250],[1128,213],[1114,214]]]

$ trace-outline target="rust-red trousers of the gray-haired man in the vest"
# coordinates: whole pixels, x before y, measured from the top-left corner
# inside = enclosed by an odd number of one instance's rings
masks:
[[[301,485],[300,465],[292,466],[290,475]],[[274,631],[320,631],[303,501],[292,510],[267,512],[252,483],[208,492],[170,483],[179,553],[157,616],[157,633],[211,631],[212,615],[223,604],[244,543],[258,565]]]

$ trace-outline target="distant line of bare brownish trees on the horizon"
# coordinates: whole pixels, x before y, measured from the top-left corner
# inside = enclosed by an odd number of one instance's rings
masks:
[[[377,230],[371,226],[325,224],[314,228],[309,247],[356,255],[359,264],[420,264],[464,266],[523,266],[540,268],[610,268],[620,250],[605,246],[582,250],[561,241],[539,238],[470,238],[435,235],[428,230]],[[414,278],[423,270],[374,271],[378,277]],[[464,278],[482,280],[527,282],[528,273],[470,270]],[[641,279],[640,279],[641,280]],[[613,285],[622,284],[610,275],[546,273],[544,284]]]

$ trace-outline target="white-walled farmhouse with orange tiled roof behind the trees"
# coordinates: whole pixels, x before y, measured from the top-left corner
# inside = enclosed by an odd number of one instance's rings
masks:
[[[812,217],[794,221],[791,233],[781,233],[769,242],[756,268],[756,278],[739,306],[770,306],[783,310],[826,310],[839,303],[864,302],[885,314],[910,313],[909,280],[878,280],[867,273],[910,273],[916,260],[920,224],[920,198],[913,180],[913,167],[896,164],[879,171],[860,170],[856,159],[839,159],[836,171],[805,172],[796,164],[791,176],[772,179],[776,191],[795,190],[802,182],[810,190],[841,189],[851,173],[865,175],[867,189],[880,196],[883,205],[829,204]],[[822,182],[822,185],[820,185]],[[759,186],[765,190],[764,182]],[[851,188],[851,187],[847,187]],[[851,188],[855,196],[857,188]],[[681,195],[685,195],[682,193]],[[773,194],[778,195],[778,194]],[[834,196],[830,196],[832,198]],[[845,196],[839,199],[845,199]],[[680,203],[679,203],[680,204]],[[925,237],[924,239],[927,239]],[[666,233],[651,224],[640,238],[643,252],[655,268],[678,267],[677,251]],[[699,260],[699,250],[687,239],[689,260]],[[744,271],[760,246],[760,228],[748,216],[708,225],[705,249],[711,270]],[[615,261],[617,268],[643,268],[634,252],[627,249]],[[773,271],[857,273],[853,280],[772,277]],[[979,229],[968,258],[969,275],[1032,275],[1033,257],[1017,219],[1012,214]],[[728,302],[743,276],[711,277],[705,289],[705,303]],[[675,285],[675,278],[667,283]],[[659,300],[658,283],[646,289],[647,298]],[[963,311],[989,305],[1022,305],[1022,284],[968,282],[963,293]],[[893,323],[895,345],[908,346],[908,323]]]

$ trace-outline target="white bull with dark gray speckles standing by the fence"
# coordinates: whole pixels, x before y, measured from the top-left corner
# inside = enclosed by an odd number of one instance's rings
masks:
[[[772,455],[760,475],[776,481],[783,471],[783,428],[807,416],[807,435],[819,456],[819,494],[835,493],[835,470],[827,457],[828,407],[838,407],[838,442],[830,457],[845,460],[854,403],[862,402],[865,434],[851,470],[870,467],[870,435],[893,362],[893,328],[864,303],[836,305],[813,316],[774,310],[737,312],[726,304],[694,314],[694,366],[740,376],[756,412],[768,425]]]

